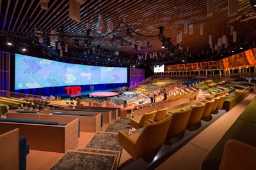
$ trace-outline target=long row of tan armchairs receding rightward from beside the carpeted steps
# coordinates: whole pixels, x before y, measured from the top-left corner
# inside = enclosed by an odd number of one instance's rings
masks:
[[[209,118],[211,114],[221,109],[224,99],[225,96],[218,96],[211,101],[173,110],[172,113],[167,113],[168,108],[164,108],[131,118],[131,127],[142,129],[142,131],[131,135],[118,132],[119,143],[134,160],[139,159],[165,141],[180,134],[183,135],[186,129],[200,124],[200,120]]]

